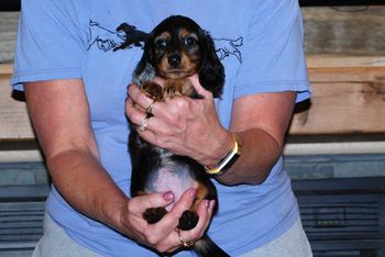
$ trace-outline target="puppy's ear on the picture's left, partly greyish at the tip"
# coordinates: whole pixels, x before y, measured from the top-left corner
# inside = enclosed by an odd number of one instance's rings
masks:
[[[142,58],[133,72],[133,81],[138,85],[142,85],[152,80],[154,77],[154,47],[152,36],[150,36],[144,44]]]

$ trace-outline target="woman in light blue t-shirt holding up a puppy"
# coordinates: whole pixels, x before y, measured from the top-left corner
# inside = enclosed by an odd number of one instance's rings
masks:
[[[215,101],[193,77],[205,98],[155,103],[141,135],[209,168],[229,152],[232,134],[242,145],[237,161],[213,178],[219,202],[202,201],[198,225],[180,234],[178,217],[196,191],[187,190],[161,222],[142,219],[145,209],[166,206],[174,195],[130,198],[124,114],[141,124],[145,114],[132,103],[152,104],[136,86],[125,103],[142,55],[143,42],[134,36],[172,14],[210,32],[226,68],[224,92]],[[295,102],[309,97],[297,1],[23,1],[11,83],[25,90],[53,181],[34,256],[174,253],[200,238],[215,204],[208,234],[229,255],[311,255],[280,158]]]

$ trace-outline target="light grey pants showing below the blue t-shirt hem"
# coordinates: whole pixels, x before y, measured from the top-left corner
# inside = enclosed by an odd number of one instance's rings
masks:
[[[309,242],[298,220],[284,235],[256,248],[242,257],[311,257]],[[45,213],[44,235],[38,241],[32,257],[101,257],[88,248],[75,243]]]

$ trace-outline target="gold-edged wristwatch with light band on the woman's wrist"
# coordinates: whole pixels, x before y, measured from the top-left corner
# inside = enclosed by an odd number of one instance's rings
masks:
[[[208,168],[205,166],[205,170],[207,174],[212,176],[221,176],[226,174],[230,167],[237,161],[237,159],[241,156],[242,146],[239,143],[239,139],[234,134],[232,134],[233,146],[231,150],[219,161],[219,164],[213,168]]]

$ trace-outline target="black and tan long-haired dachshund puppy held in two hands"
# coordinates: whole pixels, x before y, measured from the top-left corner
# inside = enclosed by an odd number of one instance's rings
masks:
[[[161,22],[150,34],[142,59],[134,71],[134,81],[154,101],[188,96],[201,99],[188,77],[198,74],[201,86],[215,98],[222,93],[224,69],[216,55],[212,38],[191,19],[175,15]],[[157,76],[165,80],[163,87],[153,82]],[[148,113],[147,118],[152,114]],[[191,230],[198,223],[196,209],[204,199],[217,200],[217,190],[196,160],[174,155],[158,148],[143,138],[131,124],[129,149],[132,160],[131,194],[173,191],[176,200],[188,188],[197,189],[197,197],[190,210],[179,219],[179,230]],[[218,201],[217,201],[218,202]],[[165,208],[147,209],[144,219],[153,224],[160,221]],[[207,235],[190,246],[199,256],[228,256]]]

